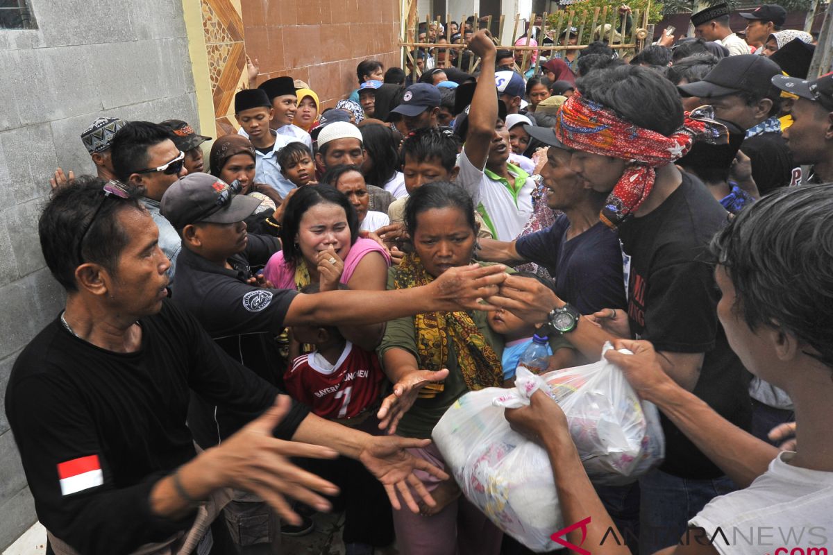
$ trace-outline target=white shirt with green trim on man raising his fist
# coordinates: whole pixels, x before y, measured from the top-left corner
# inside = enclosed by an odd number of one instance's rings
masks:
[[[535,181],[527,176],[520,191],[513,195],[501,181],[491,179],[482,168],[473,166],[466,156],[465,148],[457,158],[457,166],[460,167],[460,173],[455,181],[469,192],[486,225],[495,231],[495,239],[516,239],[532,215],[532,191],[535,191]],[[523,171],[521,168],[517,169]],[[511,170],[510,174],[526,176],[526,172],[518,174]]]

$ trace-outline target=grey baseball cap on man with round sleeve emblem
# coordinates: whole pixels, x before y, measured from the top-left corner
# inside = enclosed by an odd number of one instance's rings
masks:
[[[188,224],[236,224],[252,216],[260,199],[235,195],[222,179],[207,173],[189,173],[168,187],[160,211],[177,230]]]

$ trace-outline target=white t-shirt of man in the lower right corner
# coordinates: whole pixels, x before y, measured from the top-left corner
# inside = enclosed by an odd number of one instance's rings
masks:
[[[712,499],[689,526],[703,528],[718,553],[825,553],[808,548],[833,544],[833,472],[791,466],[795,454],[779,453],[749,488]]]

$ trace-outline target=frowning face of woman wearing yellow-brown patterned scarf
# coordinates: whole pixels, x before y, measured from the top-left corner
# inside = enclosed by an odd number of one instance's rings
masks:
[[[438,277],[449,268],[471,264],[475,232],[459,208],[431,208],[416,216],[414,249],[426,272]]]

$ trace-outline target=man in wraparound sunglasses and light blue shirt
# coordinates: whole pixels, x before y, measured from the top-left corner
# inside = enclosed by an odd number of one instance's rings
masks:
[[[113,137],[112,167],[118,181],[144,187],[142,204],[159,228],[159,247],[171,261],[168,277],[173,280],[182,241],[162,216],[159,203],[168,187],[187,175],[185,152],[174,145],[165,127],[150,121],[131,121]]]

